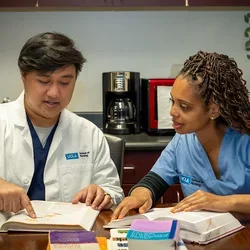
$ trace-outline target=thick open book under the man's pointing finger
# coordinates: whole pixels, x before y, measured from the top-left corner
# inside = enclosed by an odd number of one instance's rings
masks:
[[[16,214],[0,212],[0,231],[91,230],[99,211],[85,203],[71,204],[51,201],[31,201],[37,218],[25,210]]]

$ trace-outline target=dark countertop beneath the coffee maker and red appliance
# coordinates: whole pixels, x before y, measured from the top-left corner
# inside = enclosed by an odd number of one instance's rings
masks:
[[[163,150],[173,138],[173,135],[151,136],[146,133],[131,135],[115,135],[126,141],[125,150]]]

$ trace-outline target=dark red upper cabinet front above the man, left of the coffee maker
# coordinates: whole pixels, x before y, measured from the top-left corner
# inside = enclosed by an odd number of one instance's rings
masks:
[[[39,7],[111,6],[112,0],[39,0]]]

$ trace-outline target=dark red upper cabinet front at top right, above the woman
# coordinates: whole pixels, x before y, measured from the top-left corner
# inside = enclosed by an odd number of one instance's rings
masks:
[[[250,0],[189,0],[189,6],[250,6]]]

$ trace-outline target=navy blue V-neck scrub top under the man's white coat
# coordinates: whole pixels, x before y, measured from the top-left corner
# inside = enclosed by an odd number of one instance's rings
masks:
[[[34,152],[34,175],[28,190],[28,197],[30,200],[45,200],[45,185],[43,181],[44,167],[46,164],[47,156],[49,153],[50,145],[56,131],[59,119],[56,125],[51,130],[45,147],[42,146],[42,143],[34,129],[29,117],[27,116],[27,121],[30,128],[30,134],[33,142],[33,152]]]

